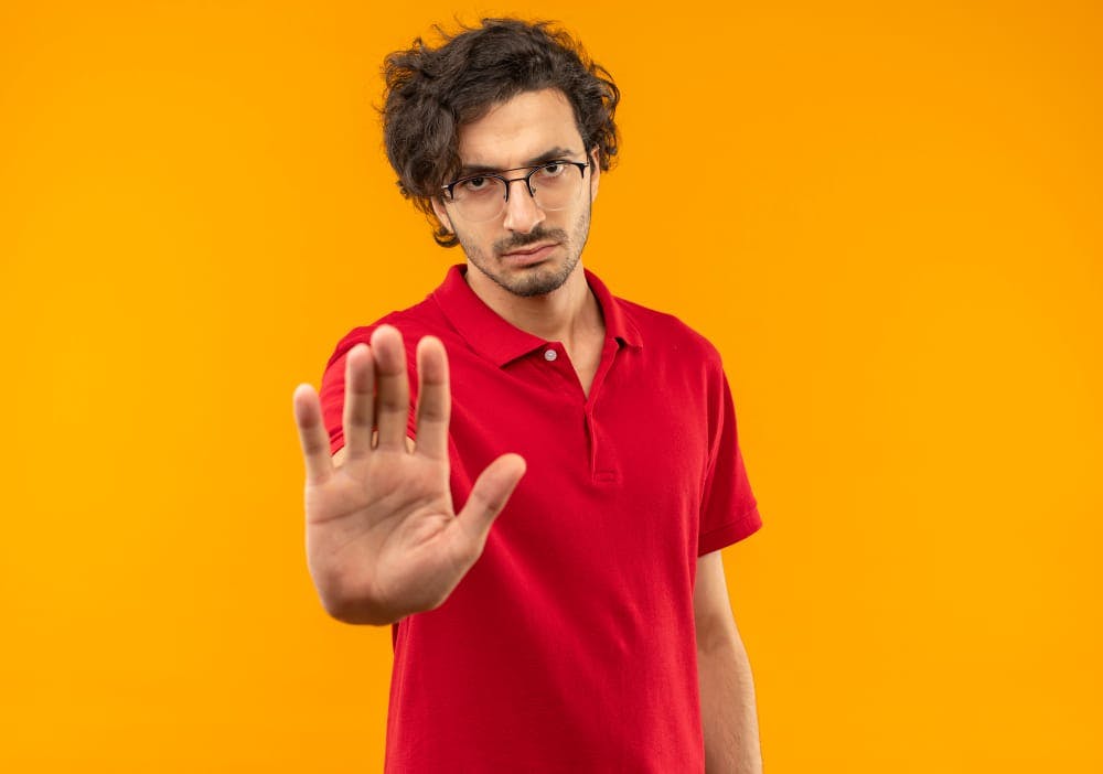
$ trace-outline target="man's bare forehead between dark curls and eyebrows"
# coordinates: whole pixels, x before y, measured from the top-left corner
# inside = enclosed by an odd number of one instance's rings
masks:
[[[552,148],[569,148],[578,154],[586,151],[575,111],[558,89],[522,92],[465,123],[459,132],[464,166],[523,166]]]

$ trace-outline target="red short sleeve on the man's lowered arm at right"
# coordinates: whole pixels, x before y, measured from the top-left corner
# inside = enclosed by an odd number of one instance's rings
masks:
[[[739,450],[731,389],[722,370],[719,383],[719,395],[709,401],[711,442],[702,497],[698,556],[738,542],[762,526]]]

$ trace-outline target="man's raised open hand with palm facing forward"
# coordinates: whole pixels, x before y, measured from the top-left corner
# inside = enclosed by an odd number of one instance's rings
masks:
[[[349,351],[345,448],[330,456],[318,394],[295,391],[307,465],[307,562],[322,603],[349,623],[393,623],[432,610],[482,555],[525,461],[503,454],[457,516],[448,482],[448,358],[418,342],[417,442],[406,437],[409,381],[401,334],[381,325]]]

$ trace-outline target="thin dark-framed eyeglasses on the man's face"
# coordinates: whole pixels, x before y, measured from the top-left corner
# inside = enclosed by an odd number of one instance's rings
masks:
[[[482,172],[468,178],[460,178],[448,185],[441,185],[445,201],[456,206],[463,218],[473,223],[493,221],[505,212],[510,201],[510,184],[525,181],[528,195],[536,206],[545,212],[566,209],[581,189],[589,162],[582,161],[547,161],[534,166],[517,166],[502,170],[502,174]],[[578,176],[570,168],[578,170]],[[521,178],[504,178],[506,172],[528,170]]]

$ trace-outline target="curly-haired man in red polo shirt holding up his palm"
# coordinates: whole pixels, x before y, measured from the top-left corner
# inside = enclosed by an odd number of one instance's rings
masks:
[[[761,520],[719,356],[581,264],[617,87],[516,20],[386,75],[400,186],[467,261],[295,396],[321,600],[394,625],[386,770],[760,771],[719,549]]]

